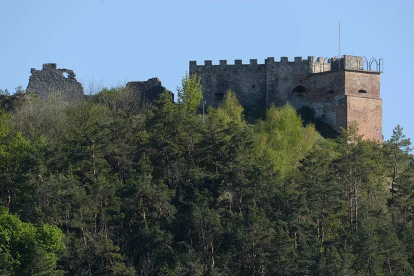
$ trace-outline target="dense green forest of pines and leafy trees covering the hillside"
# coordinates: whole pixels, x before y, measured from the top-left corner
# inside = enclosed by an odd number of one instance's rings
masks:
[[[288,105],[245,117],[231,91],[204,115],[193,76],[177,103],[18,94],[0,112],[1,275],[414,275],[400,126],[324,139]]]

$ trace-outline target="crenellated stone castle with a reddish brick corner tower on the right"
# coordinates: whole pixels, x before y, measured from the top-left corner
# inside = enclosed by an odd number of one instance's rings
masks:
[[[344,55],[341,58],[268,57],[264,64],[190,61],[190,75],[201,77],[203,102],[217,106],[227,90],[236,92],[242,106],[266,108],[290,103],[296,110],[312,108],[315,117],[335,131],[357,121],[365,139],[382,141],[382,59]]]

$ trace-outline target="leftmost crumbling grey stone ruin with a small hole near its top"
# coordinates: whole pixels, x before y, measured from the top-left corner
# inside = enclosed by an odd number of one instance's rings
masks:
[[[42,70],[32,68],[27,91],[48,99],[51,95],[61,97],[63,101],[72,101],[84,97],[81,83],[72,70],[57,69],[56,63],[43,64]]]

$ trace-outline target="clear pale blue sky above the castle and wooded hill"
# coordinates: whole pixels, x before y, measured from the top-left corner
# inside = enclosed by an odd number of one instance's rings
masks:
[[[384,59],[384,137],[414,138],[414,1],[0,0],[0,88],[57,63],[88,90],[158,77],[176,92],[188,61],[337,55]]]

